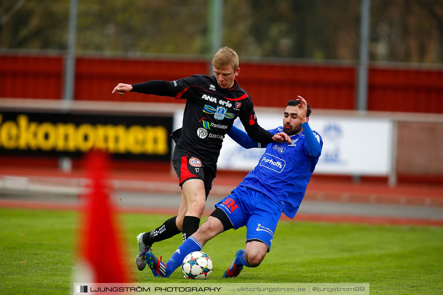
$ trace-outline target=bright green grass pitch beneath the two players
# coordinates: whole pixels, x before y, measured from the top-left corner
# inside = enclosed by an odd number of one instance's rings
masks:
[[[153,278],[149,268],[136,270],[136,235],[169,217],[119,216],[134,282],[192,283],[183,279],[180,269],[167,281]],[[78,214],[0,209],[0,224],[0,294],[70,294]],[[167,261],[180,241],[177,235],[156,243],[154,253]],[[106,234],[97,242],[105,244]],[[229,230],[205,245],[202,251],[214,263],[208,283],[369,283],[371,294],[442,293],[441,227],[280,222],[262,264],[223,279],[236,250],[244,245],[245,228]]]

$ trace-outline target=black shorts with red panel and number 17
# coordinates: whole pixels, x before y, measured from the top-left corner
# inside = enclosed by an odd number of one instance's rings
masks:
[[[205,184],[206,199],[208,198],[217,173],[216,162],[203,162],[197,154],[176,145],[172,165],[179,176],[180,187],[188,179],[201,179]]]

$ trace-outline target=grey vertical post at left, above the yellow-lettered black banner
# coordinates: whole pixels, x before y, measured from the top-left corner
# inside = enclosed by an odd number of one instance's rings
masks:
[[[65,76],[63,88],[63,111],[69,111],[70,104],[74,99],[75,83],[75,48],[77,41],[77,10],[78,0],[70,0],[69,24],[68,24],[68,48],[65,59]],[[72,161],[70,157],[60,157],[58,159],[58,169],[70,172]]]

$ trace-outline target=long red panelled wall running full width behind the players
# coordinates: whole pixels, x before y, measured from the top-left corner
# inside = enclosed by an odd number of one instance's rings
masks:
[[[256,106],[281,107],[297,95],[313,108],[354,109],[353,66],[282,65],[243,62],[238,82]],[[130,93],[111,95],[119,83],[175,80],[207,73],[208,61],[136,60],[79,57],[76,100],[177,102],[172,98]],[[63,57],[0,55],[0,97],[60,99]],[[443,70],[369,69],[368,109],[443,113]]]

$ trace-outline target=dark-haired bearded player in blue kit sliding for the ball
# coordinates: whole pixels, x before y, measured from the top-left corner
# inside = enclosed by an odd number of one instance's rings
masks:
[[[283,126],[269,132],[284,130],[292,143],[268,143],[254,170],[230,195],[215,204],[216,209],[206,222],[167,263],[159,261],[153,253],[146,253],[146,262],[154,276],[170,276],[188,253],[200,251],[216,235],[242,226],[247,227],[245,249],[237,251],[223,277],[238,276],[243,266],[257,267],[263,261],[271,249],[281,213],[290,218],[295,216],[322,151],[322,138],[307,123],[310,114],[311,108],[301,96],[288,101]],[[235,127],[228,135],[247,149],[262,147]]]

